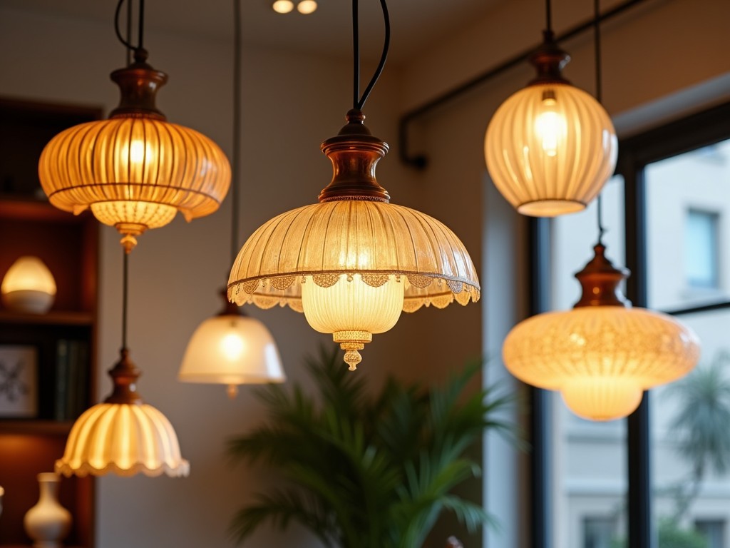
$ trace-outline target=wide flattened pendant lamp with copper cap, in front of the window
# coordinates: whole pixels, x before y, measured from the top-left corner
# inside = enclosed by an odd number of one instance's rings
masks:
[[[520,322],[504,340],[504,365],[521,381],[559,390],[578,416],[620,419],[642,392],[675,381],[699,360],[694,331],[671,316],[631,308],[618,285],[628,271],[606,259],[600,243],[577,278],[583,296],[566,312]]]

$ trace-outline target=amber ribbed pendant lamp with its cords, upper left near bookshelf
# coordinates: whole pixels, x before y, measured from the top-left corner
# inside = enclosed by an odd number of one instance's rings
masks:
[[[177,211],[186,221],[218,210],[231,180],[228,159],[218,145],[193,129],[169,123],[155,107],[167,81],[147,64],[142,47],[144,0],[139,0],[139,42],[134,63],[112,72],[119,106],[104,121],[64,130],[45,146],[38,173],[51,204],[74,214],[90,208],[123,235],[126,249],[147,229],[164,227]],[[131,1],[131,0],[128,0]]]

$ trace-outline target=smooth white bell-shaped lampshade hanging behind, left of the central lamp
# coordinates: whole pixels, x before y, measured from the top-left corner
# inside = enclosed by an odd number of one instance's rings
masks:
[[[235,305],[193,332],[177,378],[226,384],[229,397],[237,395],[239,384],[286,380],[271,332],[258,319],[243,316]]]

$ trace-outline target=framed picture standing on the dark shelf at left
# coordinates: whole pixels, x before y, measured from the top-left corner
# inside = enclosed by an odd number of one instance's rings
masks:
[[[38,349],[0,345],[0,419],[38,416]]]

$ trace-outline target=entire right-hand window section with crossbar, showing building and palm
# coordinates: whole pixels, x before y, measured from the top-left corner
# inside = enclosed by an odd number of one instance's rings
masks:
[[[687,377],[650,400],[658,548],[728,548],[730,520],[730,140],[647,164],[648,306],[702,340]],[[682,226],[683,221],[684,226]]]

